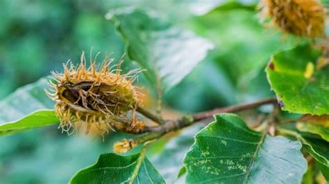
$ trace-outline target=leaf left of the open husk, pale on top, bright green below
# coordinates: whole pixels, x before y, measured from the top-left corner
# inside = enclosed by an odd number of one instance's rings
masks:
[[[45,79],[28,84],[0,102],[0,136],[58,124]]]

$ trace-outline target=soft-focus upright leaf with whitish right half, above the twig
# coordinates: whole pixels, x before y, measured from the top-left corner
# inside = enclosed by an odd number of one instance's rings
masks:
[[[170,89],[183,80],[214,47],[144,10],[109,12],[107,17],[115,21],[126,42],[128,57],[147,70],[144,74],[151,84],[156,86],[160,79],[162,89]]]

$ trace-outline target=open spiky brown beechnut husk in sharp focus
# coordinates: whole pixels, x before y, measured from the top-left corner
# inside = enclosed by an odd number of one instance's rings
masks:
[[[83,54],[80,65],[73,66],[68,62],[64,64],[64,73],[52,73],[55,82],[50,80],[49,84],[54,90],[47,94],[56,101],[55,111],[63,131],[83,129],[88,134],[91,126],[99,129],[101,135],[110,129],[135,128],[138,131],[138,127],[132,126],[136,125],[135,109],[141,102],[137,87],[132,83],[139,70],[121,75],[121,62],[109,68],[112,61],[106,57],[103,66],[96,71],[92,60],[86,68]],[[128,113],[131,111],[133,113]],[[144,124],[139,122],[138,125]]]

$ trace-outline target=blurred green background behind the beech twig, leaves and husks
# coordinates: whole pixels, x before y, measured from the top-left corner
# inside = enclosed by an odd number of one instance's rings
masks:
[[[228,6],[222,6],[225,3]],[[210,39],[216,46],[183,82],[165,94],[167,116],[269,97],[273,93],[264,67],[271,53],[300,40],[260,23],[256,3],[2,0],[0,100],[20,86],[49,75],[51,70],[62,71],[62,63],[68,59],[77,62],[82,50],[89,53],[93,47],[94,53],[120,57],[124,42],[105,15],[109,10],[130,6],[154,10],[163,19]],[[130,62],[128,58],[126,62]],[[145,90],[151,91],[147,84]],[[152,104],[152,96],[146,100]],[[67,183],[74,173],[96,162],[99,154],[112,151],[112,143],[124,137],[117,134],[103,142],[99,138],[67,136],[56,128],[0,137],[0,183]],[[167,139],[160,140],[151,150],[150,155],[169,150],[152,158],[157,167],[163,165],[161,156],[171,154],[171,166],[158,168],[167,181],[173,181],[168,174],[173,173],[171,167],[174,172],[179,169],[195,129],[199,127],[187,129],[179,140],[167,144]]]

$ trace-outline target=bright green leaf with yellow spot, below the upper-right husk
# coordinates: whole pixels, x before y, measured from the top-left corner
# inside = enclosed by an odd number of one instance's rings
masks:
[[[320,53],[303,45],[273,55],[266,71],[283,110],[329,113],[329,67],[316,67]]]

